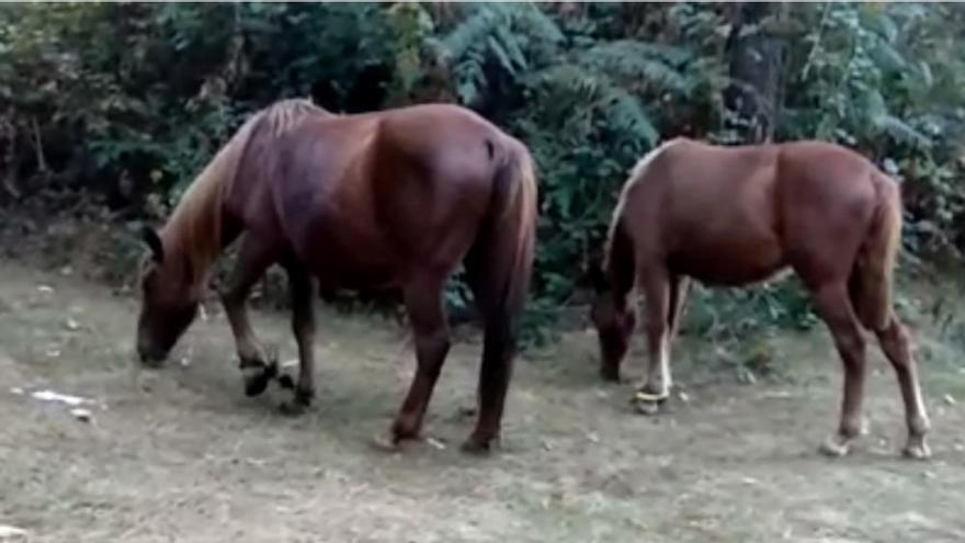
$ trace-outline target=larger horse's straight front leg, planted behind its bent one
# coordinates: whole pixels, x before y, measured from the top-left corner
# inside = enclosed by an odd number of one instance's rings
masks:
[[[290,264],[286,269],[292,303],[292,332],[298,343],[298,383],[295,384],[292,403],[283,404],[283,410],[296,415],[311,405],[315,397],[315,283],[304,268]]]

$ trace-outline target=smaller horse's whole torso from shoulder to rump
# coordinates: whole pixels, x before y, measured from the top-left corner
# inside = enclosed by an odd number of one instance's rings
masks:
[[[852,251],[874,207],[870,162],[820,142],[677,139],[644,166],[623,204],[637,249],[707,283],[762,280],[819,251],[817,239]]]

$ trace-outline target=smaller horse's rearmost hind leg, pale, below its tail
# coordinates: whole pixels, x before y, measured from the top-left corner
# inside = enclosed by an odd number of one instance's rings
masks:
[[[901,398],[905,400],[905,420],[908,425],[908,442],[902,450],[906,456],[927,459],[931,455],[926,434],[930,423],[921,399],[921,387],[918,384],[918,367],[911,355],[908,331],[893,315],[888,326],[877,332],[882,351],[895,367]]]

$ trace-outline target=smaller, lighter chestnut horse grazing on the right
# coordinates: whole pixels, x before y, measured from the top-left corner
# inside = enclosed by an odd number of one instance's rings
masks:
[[[591,318],[601,374],[620,378],[636,324],[628,296],[638,286],[646,298],[649,364],[635,401],[642,411],[656,412],[670,389],[669,349],[688,278],[736,286],[790,267],[844,365],[840,425],[821,450],[847,454],[862,431],[867,329],[898,376],[908,426],[904,452],[927,457],[929,420],[910,339],[892,308],[900,234],[897,184],[845,148],[669,142],[640,160],[624,185],[602,269],[594,269]]]

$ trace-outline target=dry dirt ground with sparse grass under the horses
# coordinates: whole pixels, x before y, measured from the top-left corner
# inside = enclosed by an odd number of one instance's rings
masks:
[[[775,338],[782,377],[753,385],[707,378],[714,347],[684,338],[688,400],[655,419],[631,411],[629,385],[598,382],[590,336],[568,335],[519,363],[502,450],[476,459],[457,444],[477,341],[449,359],[433,441],[390,454],[370,441],[415,365],[394,325],[320,309],[319,396],[293,419],[279,391],[243,397],[214,312],[164,369],[139,370],[135,312],[106,287],[0,263],[0,525],[36,542],[965,541],[965,360],[929,329],[930,462],[897,454],[897,386],[876,350],[871,433],[849,457],[817,453],[840,383],[824,330]],[[256,325],[294,357],[284,315]],[[92,420],[41,389],[93,399]]]

